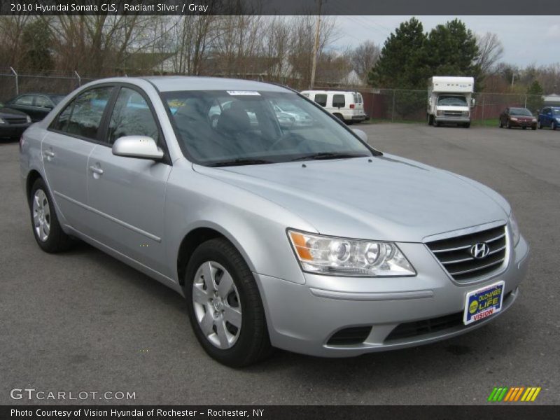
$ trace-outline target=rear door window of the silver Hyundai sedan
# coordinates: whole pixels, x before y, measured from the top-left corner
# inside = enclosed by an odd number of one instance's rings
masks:
[[[86,139],[97,139],[105,107],[111,97],[112,86],[87,90],[74,99],[66,132]]]

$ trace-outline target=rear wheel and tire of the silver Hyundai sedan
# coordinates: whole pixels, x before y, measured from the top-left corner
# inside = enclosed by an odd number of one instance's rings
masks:
[[[72,246],[72,238],[60,227],[54,202],[48,193],[45,181],[41,178],[37,179],[31,187],[29,211],[33,235],[43,251],[57,253],[66,251]]]

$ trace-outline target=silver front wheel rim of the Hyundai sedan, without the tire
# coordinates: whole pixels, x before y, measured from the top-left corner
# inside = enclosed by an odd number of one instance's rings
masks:
[[[241,300],[231,274],[215,261],[204,262],[193,281],[195,317],[218,349],[230,349],[241,332]]]

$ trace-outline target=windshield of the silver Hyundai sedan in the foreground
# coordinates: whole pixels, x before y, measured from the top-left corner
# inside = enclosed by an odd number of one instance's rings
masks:
[[[372,155],[351,132],[295,93],[183,91],[165,92],[162,98],[183,153],[200,165]]]

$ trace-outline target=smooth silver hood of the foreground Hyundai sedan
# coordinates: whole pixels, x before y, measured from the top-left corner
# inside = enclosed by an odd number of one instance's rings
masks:
[[[193,168],[292,211],[324,235],[422,241],[507,221],[509,204],[482,184],[393,155],[371,161]]]

